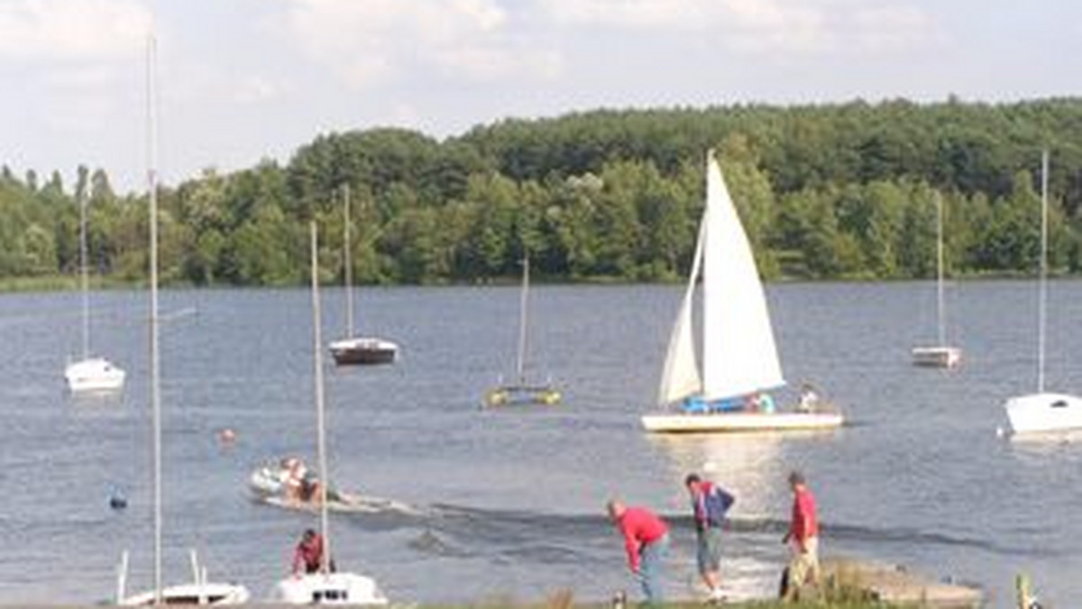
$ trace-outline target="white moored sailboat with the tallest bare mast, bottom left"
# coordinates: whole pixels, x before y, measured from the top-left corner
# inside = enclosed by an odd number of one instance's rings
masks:
[[[150,409],[151,438],[154,447],[154,588],[134,595],[127,595],[128,553],[121,558],[118,573],[117,605],[240,605],[251,597],[248,588],[240,584],[207,581],[206,570],[192,554],[193,581],[190,583],[163,587],[161,584],[161,365],[158,348],[158,175],[157,175],[157,129],[155,100],[155,58],[157,43],[154,36],[147,41],[147,117],[149,128],[147,198],[150,224]]]

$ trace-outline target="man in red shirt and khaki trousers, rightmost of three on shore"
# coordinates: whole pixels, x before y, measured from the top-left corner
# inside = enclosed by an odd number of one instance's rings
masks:
[[[793,493],[793,514],[789,532],[781,541],[789,544],[791,557],[782,574],[781,598],[796,600],[805,585],[819,585],[819,518],[815,495],[804,475],[791,472],[789,488]]]

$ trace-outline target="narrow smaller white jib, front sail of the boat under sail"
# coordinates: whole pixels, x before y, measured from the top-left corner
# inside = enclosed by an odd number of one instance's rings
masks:
[[[695,246],[695,259],[691,263],[691,276],[684,291],[684,302],[679,306],[679,315],[669,336],[669,350],[665,353],[665,366],[661,372],[661,385],[658,387],[658,403],[665,405],[684,399],[702,392],[702,380],[699,378],[699,365],[695,357],[695,337],[692,335],[691,309],[695,304],[695,283],[702,266],[702,244],[705,235],[705,212],[699,224],[699,238]]]

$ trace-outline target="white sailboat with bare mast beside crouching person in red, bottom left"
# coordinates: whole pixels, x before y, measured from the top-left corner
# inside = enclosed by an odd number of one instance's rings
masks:
[[[317,264],[318,236],[316,223],[309,225],[312,240],[312,334],[314,356],[313,389],[316,402],[316,452],[319,460],[319,479],[327,479],[327,432],[324,407],[322,337],[319,315],[319,274]],[[280,580],[272,592],[272,603],[296,605],[387,605],[375,580],[367,575],[338,572],[331,568],[331,535],[329,526],[327,485],[319,485],[319,531],[324,540],[319,571],[295,574]]]

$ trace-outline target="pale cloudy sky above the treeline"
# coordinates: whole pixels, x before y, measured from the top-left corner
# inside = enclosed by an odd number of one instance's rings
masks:
[[[0,164],[145,187],[329,132],[595,108],[1082,95],[1078,0],[0,0]]]

